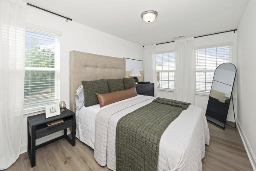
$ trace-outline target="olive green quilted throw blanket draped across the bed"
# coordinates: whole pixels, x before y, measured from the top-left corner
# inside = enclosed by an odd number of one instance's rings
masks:
[[[160,138],[189,104],[157,98],[119,119],[116,126],[116,171],[157,171]]]

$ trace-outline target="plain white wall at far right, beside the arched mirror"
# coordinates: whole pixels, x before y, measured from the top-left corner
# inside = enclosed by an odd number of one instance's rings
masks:
[[[250,0],[238,27],[239,130],[256,170],[256,1]]]

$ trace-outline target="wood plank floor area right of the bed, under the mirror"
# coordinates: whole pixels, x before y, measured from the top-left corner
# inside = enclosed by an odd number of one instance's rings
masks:
[[[237,128],[226,125],[221,130],[209,123],[208,126],[210,144],[205,148],[203,171],[253,171]]]

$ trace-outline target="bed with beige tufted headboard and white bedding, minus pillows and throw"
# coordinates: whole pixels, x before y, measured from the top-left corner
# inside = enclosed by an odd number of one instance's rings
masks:
[[[122,58],[70,52],[70,109],[76,110],[74,92],[82,80],[122,78],[124,75],[125,61]],[[118,120],[154,99],[138,95],[102,108],[99,104],[82,107],[76,111],[76,137],[95,150],[94,158],[99,165],[107,165],[115,171]],[[161,136],[157,170],[202,170],[205,144],[209,145],[209,129],[204,112],[199,107],[189,105]]]

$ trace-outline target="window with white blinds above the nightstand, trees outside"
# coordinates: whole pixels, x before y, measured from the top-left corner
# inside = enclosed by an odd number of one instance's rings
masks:
[[[24,109],[59,101],[59,36],[26,29]]]

